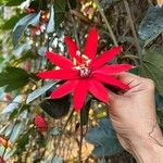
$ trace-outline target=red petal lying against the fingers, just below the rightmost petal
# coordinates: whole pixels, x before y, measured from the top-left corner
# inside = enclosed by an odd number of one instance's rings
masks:
[[[128,85],[125,85],[124,83],[116,79],[115,77],[108,76],[104,74],[95,74],[93,77],[96,77],[97,79],[99,79],[108,85],[116,86],[121,89],[129,89]]]

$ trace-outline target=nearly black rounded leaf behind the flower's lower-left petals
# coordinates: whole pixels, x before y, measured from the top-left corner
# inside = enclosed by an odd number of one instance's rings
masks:
[[[70,96],[60,99],[47,99],[40,103],[40,108],[53,118],[65,116],[71,106]]]

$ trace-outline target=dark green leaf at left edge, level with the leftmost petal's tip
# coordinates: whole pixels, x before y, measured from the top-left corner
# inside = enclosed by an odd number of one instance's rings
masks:
[[[7,67],[0,73],[0,87],[5,86],[5,91],[16,90],[28,84],[29,75],[18,67]]]

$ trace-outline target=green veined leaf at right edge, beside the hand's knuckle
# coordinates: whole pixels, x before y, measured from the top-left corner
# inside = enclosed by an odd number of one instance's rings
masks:
[[[158,91],[163,96],[163,54],[154,50],[145,51],[143,54],[146,76],[154,80]]]

